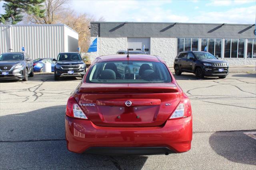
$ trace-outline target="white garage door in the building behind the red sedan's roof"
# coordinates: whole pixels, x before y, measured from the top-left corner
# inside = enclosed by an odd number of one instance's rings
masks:
[[[150,53],[150,38],[127,38],[127,46],[130,50],[143,50],[145,45],[146,53]]]

